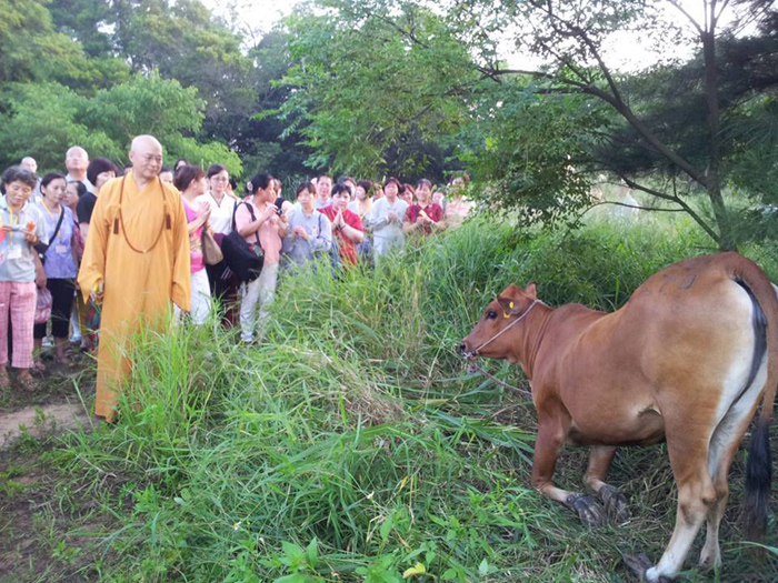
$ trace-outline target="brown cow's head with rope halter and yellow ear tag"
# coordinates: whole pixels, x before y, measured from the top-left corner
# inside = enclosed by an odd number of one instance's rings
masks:
[[[459,345],[462,355],[468,360],[487,356],[517,362],[516,334],[537,303],[540,302],[535,283],[529,283],[526,290],[518,285],[506,288],[487,305],[476,328],[462,340]]]

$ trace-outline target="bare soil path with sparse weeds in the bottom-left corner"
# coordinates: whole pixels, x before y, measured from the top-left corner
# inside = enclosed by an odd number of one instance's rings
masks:
[[[49,456],[54,435],[93,423],[90,356],[47,362],[37,389],[0,393],[0,582],[97,581],[110,560],[100,544],[111,519],[82,489],[62,480]],[[13,374],[11,374],[13,380]]]

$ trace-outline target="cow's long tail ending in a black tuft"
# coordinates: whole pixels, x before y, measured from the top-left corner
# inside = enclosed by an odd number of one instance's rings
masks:
[[[778,289],[756,263],[738,257],[734,275],[745,284],[756,300],[755,332],[757,343],[764,339],[767,356],[767,381],[762,393],[761,413],[757,419],[748,448],[746,464],[746,536],[758,541],[767,532],[770,491],[772,482],[772,459],[770,454],[770,422],[778,389]],[[759,313],[761,312],[761,313]],[[758,320],[761,319],[761,326]],[[761,359],[760,359],[761,360]]]

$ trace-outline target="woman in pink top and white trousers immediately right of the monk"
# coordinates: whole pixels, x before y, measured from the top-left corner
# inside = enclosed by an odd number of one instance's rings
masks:
[[[211,310],[211,289],[208,284],[208,273],[202,258],[202,230],[210,229],[208,219],[211,208],[207,202],[196,201],[202,195],[208,183],[206,172],[196,165],[179,168],[173,178],[173,185],[181,191],[183,212],[187,214],[187,228],[189,230],[189,250],[192,282],[192,309],[191,318],[196,324],[202,324],[208,319]]]

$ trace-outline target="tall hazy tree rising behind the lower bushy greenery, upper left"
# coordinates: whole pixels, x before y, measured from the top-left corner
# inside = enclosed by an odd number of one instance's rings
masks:
[[[230,143],[255,92],[241,38],[198,0],[52,0],[54,24],[96,60],[121,58],[133,72],[158,71],[196,87],[206,102],[200,132]]]

